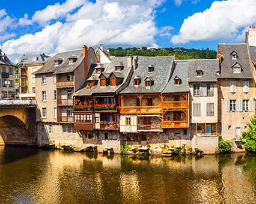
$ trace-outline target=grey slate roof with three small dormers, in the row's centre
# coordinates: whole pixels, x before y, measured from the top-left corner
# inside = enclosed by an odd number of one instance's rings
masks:
[[[129,85],[123,89],[120,94],[150,94],[162,92],[168,83],[173,63],[173,56],[138,56],[138,67],[134,71]],[[154,64],[154,71],[149,73],[148,66],[150,64]],[[141,83],[139,83],[138,87],[133,85],[133,79],[136,79],[136,77],[141,79]],[[151,79],[154,80],[154,84],[150,87],[150,89],[145,88],[144,80],[147,79],[147,77],[151,77]]]

